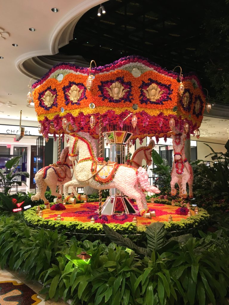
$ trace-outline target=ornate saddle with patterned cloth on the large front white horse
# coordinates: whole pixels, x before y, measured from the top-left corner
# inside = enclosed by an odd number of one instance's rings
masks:
[[[95,162],[92,166],[92,174],[96,173],[96,181],[100,183],[108,183],[109,181],[113,180],[117,169],[117,162]]]

